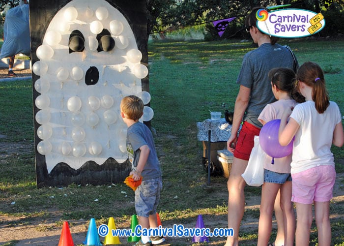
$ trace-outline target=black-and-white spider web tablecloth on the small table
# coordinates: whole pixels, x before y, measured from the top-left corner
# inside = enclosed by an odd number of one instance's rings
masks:
[[[232,125],[226,122],[225,119],[212,121],[206,119],[203,122],[197,122],[197,139],[199,141],[208,141],[208,131],[210,132],[210,142],[227,141],[231,134]]]

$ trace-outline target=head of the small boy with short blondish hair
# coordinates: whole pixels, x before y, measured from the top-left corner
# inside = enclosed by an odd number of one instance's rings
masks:
[[[120,103],[120,110],[133,121],[138,121],[142,117],[143,107],[143,101],[136,95],[128,95]]]

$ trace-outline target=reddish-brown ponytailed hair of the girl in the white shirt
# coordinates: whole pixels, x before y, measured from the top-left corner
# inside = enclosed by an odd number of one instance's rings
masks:
[[[315,102],[316,111],[319,114],[325,112],[330,105],[330,101],[321,67],[315,62],[305,62],[297,71],[296,79],[313,89],[312,100]]]

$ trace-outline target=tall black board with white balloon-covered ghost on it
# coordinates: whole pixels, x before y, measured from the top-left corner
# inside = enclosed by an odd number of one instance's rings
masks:
[[[120,98],[149,91],[148,76],[133,73],[148,61],[146,2],[134,2],[30,0],[38,187],[128,176]]]

